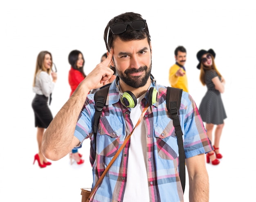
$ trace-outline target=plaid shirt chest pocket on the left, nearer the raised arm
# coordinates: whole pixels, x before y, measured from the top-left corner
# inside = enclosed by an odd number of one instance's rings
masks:
[[[120,138],[124,132],[123,123],[117,117],[104,116],[99,120],[97,131],[97,153],[106,157],[113,157],[119,148]],[[101,144],[98,144],[98,143]]]

